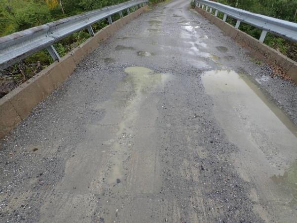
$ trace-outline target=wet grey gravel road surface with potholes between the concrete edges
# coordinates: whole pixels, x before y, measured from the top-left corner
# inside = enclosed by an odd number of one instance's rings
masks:
[[[1,222],[296,222],[296,86],[188,7],[132,21],[1,141]]]

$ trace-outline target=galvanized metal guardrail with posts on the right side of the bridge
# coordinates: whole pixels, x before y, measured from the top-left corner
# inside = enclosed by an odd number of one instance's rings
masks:
[[[238,8],[233,8],[218,2],[209,0],[195,0],[196,6],[212,13],[215,9],[215,16],[218,12],[223,12],[223,21],[226,21],[227,16],[237,19],[235,28],[238,29],[240,22],[250,24],[262,30],[259,41],[264,42],[267,32],[273,33],[277,36],[286,38],[293,42],[297,42],[297,23],[289,22],[286,20],[276,19],[265,15],[256,14],[253,12],[245,11]]]

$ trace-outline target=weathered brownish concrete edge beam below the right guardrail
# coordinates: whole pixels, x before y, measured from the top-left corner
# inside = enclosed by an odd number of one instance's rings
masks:
[[[297,83],[296,61],[286,57],[285,55],[269,47],[268,45],[260,43],[259,40],[236,29],[230,24],[223,22],[223,20],[206,12],[205,10],[202,10],[198,7],[195,7],[195,10],[206,17],[208,20],[210,20],[213,24],[218,26],[221,30],[223,30],[223,32],[234,39],[236,43],[250,49],[256,57],[265,61],[266,63],[278,66],[284,73],[292,78],[295,83]]]

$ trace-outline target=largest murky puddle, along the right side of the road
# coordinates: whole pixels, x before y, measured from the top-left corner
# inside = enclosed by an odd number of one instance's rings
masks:
[[[247,75],[212,70],[202,77],[213,113],[228,140],[237,173],[252,181],[276,216],[292,214],[297,203],[297,127]],[[290,208],[288,208],[288,206]]]

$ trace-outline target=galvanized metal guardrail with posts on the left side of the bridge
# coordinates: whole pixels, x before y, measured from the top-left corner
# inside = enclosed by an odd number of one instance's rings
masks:
[[[111,15],[119,13],[120,17],[123,17],[123,10],[127,10],[129,14],[130,8],[135,11],[135,8],[138,8],[139,5],[143,6],[147,2],[148,0],[131,0],[1,37],[0,70],[44,48],[48,50],[54,60],[60,60],[53,43],[85,28],[88,29],[91,36],[94,36],[92,24],[106,18],[111,24]]]

